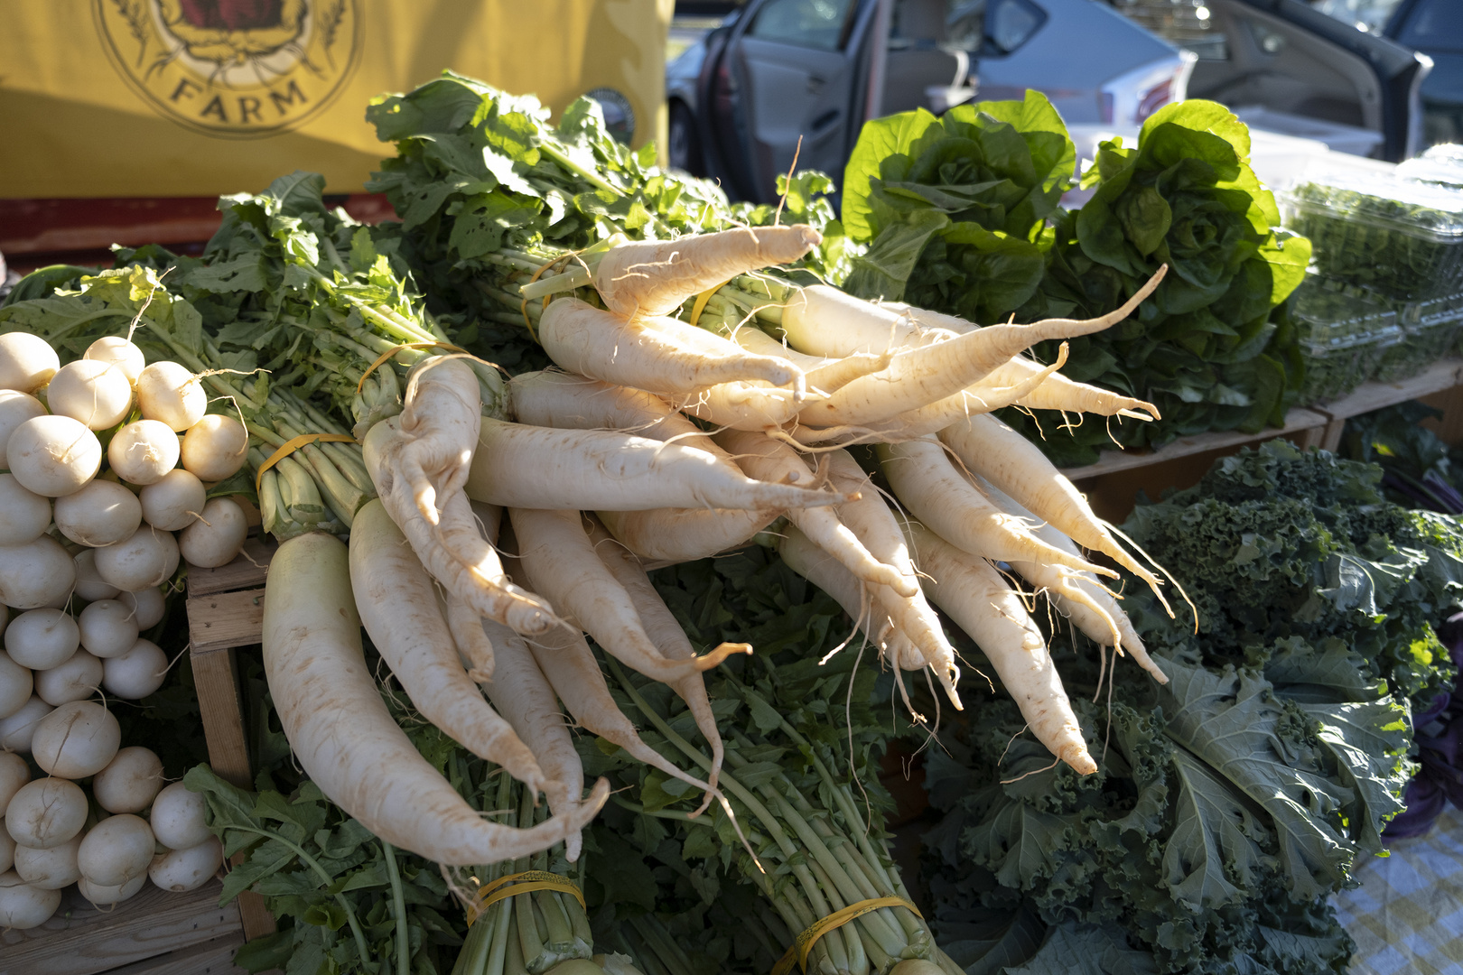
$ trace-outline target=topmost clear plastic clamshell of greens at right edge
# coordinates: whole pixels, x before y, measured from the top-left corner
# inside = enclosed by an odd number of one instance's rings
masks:
[[[1393,301],[1463,291],[1463,190],[1390,174],[1315,177],[1280,194],[1315,266]]]

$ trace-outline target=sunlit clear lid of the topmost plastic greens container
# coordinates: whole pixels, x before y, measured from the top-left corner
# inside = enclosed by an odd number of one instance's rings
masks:
[[[1463,190],[1397,175],[1328,172],[1285,193],[1305,209],[1390,227],[1407,234],[1453,241],[1463,238]]]

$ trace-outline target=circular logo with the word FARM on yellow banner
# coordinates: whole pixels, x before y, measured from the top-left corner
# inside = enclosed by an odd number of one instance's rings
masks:
[[[360,54],[357,0],[97,0],[117,70],[159,114],[209,136],[293,129]]]

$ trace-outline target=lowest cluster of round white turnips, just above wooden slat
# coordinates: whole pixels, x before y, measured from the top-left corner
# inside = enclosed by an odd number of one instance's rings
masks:
[[[31,757],[42,775],[0,751],[0,930],[44,924],[72,884],[108,906],[149,879],[193,890],[222,867],[203,797],[170,785],[151,750],[119,748],[120,737],[105,707],[72,702],[35,725]]]

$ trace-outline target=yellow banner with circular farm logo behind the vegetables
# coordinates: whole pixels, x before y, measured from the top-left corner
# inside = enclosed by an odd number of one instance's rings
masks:
[[[367,102],[443,69],[666,132],[673,0],[0,0],[0,196],[360,191]],[[613,107],[612,107],[613,105]]]

